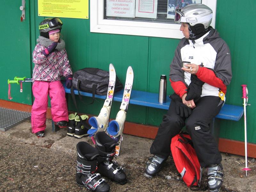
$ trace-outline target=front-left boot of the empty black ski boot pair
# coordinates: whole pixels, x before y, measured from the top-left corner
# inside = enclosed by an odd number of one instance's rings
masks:
[[[81,141],[77,143],[76,150],[76,184],[90,191],[108,192],[110,190],[108,183],[100,177],[100,173],[95,173],[98,168],[98,149]]]

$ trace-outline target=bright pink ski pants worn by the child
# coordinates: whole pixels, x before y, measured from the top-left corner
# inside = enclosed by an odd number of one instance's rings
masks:
[[[32,86],[32,91],[35,97],[31,109],[32,133],[45,130],[48,94],[51,98],[52,120],[54,122],[68,121],[68,107],[65,90],[60,81],[35,81]]]

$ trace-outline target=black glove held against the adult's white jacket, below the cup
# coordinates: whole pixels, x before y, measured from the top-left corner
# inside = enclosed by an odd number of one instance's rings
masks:
[[[188,86],[187,96],[185,97],[186,101],[194,100],[196,102],[201,98],[202,95],[202,86],[204,84],[203,81],[197,78],[196,75],[192,74],[190,77],[191,83]]]

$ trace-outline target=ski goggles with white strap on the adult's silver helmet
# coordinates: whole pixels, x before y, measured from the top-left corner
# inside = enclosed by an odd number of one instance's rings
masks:
[[[206,22],[212,19],[212,13],[203,17],[185,17],[180,11],[181,9],[176,9],[174,14],[175,23],[195,23],[195,22]]]

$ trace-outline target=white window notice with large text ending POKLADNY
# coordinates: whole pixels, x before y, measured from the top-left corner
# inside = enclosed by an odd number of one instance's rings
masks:
[[[106,0],[107,16],[135,17],[135,0]]]

